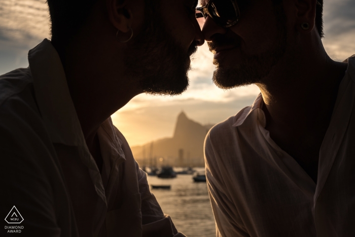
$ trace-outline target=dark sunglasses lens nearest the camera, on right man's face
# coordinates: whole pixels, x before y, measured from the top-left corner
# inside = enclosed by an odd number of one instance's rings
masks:
[[[233,24],[238,20],[235,7],[230,0],[214,1],[209,5],[208,11],[216,23],[221,26]]]

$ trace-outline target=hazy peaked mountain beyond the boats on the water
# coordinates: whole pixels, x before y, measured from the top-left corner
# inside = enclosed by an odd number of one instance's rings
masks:
[[[211,124],[201,125],[181,112],[177,116],[172,138],[132,147],[133,156],[141,165],[142,163],[143,165],[155,165],[156,160],[160,158],[168,160],[170,165],[203,164],[203,142],[212,126]]]

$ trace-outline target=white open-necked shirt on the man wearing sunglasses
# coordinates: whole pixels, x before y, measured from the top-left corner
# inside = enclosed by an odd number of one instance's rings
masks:
[[[217,236],[355,236],[355,57],[319,152],[317,184],[272,141],[261,94],[205,140]]]

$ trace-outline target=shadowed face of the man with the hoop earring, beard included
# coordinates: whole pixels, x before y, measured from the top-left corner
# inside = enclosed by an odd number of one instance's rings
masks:
[[[128,48],[130,76],[144,92],[175,95],[189,85],[190,56],[204,40],[195,18],[195,0],[147,0],[142,31]]]

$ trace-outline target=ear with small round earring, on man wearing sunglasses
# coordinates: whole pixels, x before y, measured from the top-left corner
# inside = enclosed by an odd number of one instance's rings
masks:
[[[297,8],[296,28],[308,33],[314,28],[316,0],[293,0]],[[307,26],[308,23],[308,26]]]

